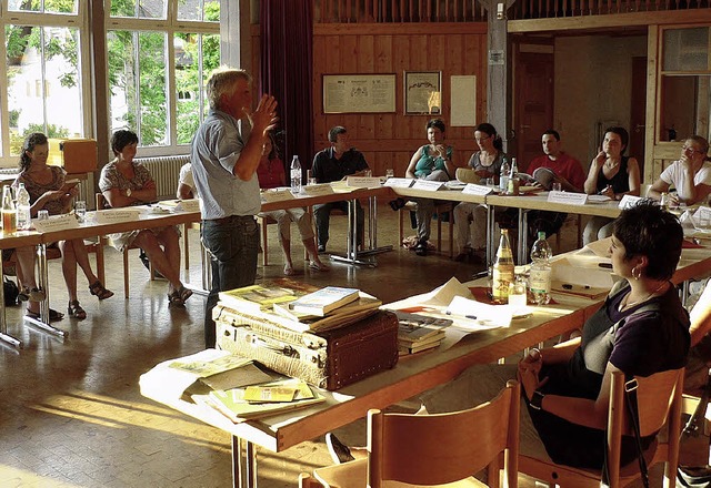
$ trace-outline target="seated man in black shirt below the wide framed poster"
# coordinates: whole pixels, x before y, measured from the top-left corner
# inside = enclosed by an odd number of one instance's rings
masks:
[[[343,180],[346,176],[362,176],[368,170],[365,157],[356,148],[349,148],[348,133],[346,128],[337,125],[329,131],[330,148],[317,153],[313,157],[311,175],[318,183],[330,183]],[[340,209],[348,212],[348,202],[331,202],[321,205],[313,205],[316,216],[316,228],[319,234],[319,253],[326,252],[326,243],[329,242],[329,221],[331,209]],[[356,218],[358,227],[358,243],[362,245],[365,217],[363,209],[358,203]]]

